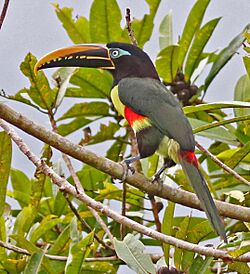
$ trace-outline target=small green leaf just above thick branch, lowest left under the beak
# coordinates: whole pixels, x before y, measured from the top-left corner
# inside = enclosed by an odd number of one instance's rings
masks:
[[[67,136],[80,128],[92,123],[95,120],[85,119],[83,117],[75,118],[73,121],[67,124],[61,124],[58,126],[58,133],[62,136]]]

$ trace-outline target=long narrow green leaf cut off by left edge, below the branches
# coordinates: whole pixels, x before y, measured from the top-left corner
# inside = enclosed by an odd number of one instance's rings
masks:
[[[10,174],[12,146],[9,135],[0,132],[0,216],[4,213],[7,184]]]

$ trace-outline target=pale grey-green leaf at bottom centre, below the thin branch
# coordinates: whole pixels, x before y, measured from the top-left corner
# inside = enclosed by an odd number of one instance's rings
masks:
[[[149,254],[145,254],[144,245],[132,234],[127,234],[123,241],[114,238],[117,256],[136,273],[156,273]]]

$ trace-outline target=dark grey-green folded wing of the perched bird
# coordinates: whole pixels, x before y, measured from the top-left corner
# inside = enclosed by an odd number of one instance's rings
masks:
[[[125,78],[118,84],[121,102],[134,112],[148,117],[159,131],[177,141],[182,150],[194,150],[190,123],[179,101],[158,80]]]

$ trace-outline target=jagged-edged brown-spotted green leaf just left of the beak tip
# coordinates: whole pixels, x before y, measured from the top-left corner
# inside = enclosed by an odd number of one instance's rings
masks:
[[[34,74],[34,66],[37,62],[35,56],[28,53],[20,65],[22,73],[29,78],[31,87],[25,89],[29,97],[41,108],[51,109],[55,104],[57,89],[51,89],[43,71]]]

